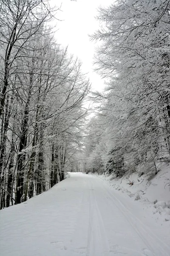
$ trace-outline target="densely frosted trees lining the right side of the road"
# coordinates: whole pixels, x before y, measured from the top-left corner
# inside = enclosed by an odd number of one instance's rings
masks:
[[[101,41],[96,64],[107,84],[93,95],[100,107],[84,169],[151,178],[170,162],[170,2],[119,0],[100,8],[98,20],[92,38]]]

